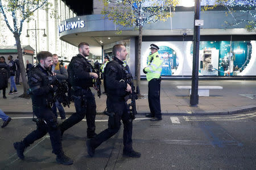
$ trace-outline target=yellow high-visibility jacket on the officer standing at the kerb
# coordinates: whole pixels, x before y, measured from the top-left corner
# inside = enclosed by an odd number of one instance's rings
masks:
[[[154,54],[148,56],[147,67],[145,67],[145,71],[147,71],[146,77],[148,82],[151,79],[160,78],[162,63],[163,60],[160,58],[158,52],[155,52]]]

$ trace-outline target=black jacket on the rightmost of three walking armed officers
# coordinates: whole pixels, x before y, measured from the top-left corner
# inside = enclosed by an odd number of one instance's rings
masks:
[[[104,87],[110,100],[125,101],[127,92],[126,73],[123,62],[114,57],[104,70]]]

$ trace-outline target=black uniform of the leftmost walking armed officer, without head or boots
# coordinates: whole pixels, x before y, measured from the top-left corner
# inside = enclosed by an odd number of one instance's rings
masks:
[[[43,69],[40,65],[32,67],[28,72],[28,85],[32,91],[33,113],[40,121],[36,123],[36,130],[32,131],[23,139],[22,144],[25,147],[30,146],[34,141],[44,137],[47,133],[50,135],[53,153],[63,154],[60,141],[60,129],[57,124],[57,118],[52,112],[50,104],[53,96],[53,88],[49,84],[48,77],[50,71]],[[19,147],[20,149],[20,147]]]

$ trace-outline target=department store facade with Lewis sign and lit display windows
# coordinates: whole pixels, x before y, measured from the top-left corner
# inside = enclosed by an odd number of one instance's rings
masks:
[[[60,23],[60,39],[77,45],[84,40],[92,45],[97,55],[112,56],[112,46],[122,43],[129,50],[127,63],[135,74],[138,31],[120,27],[104,18],[100,12],[103,5],[93,1],[93,14],[82,15]],[[255,10],[254,10],[255,11]],[[178,6],[166,22],[146,24],[143,27],[141,69],[146,66],[148,47],[154,43],[160,47],[163,59],[162,76],[190,76],[193,61],[193,7]],[[251,19],[246,12],[235,11],[227,15],[227,9],[201,12],[199,75],[246,76],[256,75],[256,35],[245,29],[245,23],[228,25],[234,16]],[[79,25],[80,23],[80,25]],[[77,24],[77,26],[75,26]],[[65,29],[63,29],[65,28]],[[117,35],[117,31],[122,33]],[[141,70],[141,76],[144,76]]]

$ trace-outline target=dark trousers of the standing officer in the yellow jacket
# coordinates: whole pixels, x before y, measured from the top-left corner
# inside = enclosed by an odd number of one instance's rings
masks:
[[[160,79],[151,79],[148,82],[148,105],[150,113],[156,118],[162,118],[160,106]]]

